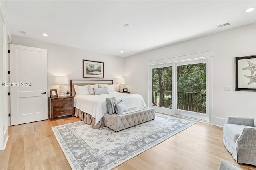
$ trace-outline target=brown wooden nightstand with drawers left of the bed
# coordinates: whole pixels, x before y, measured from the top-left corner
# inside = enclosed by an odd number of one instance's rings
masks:
[[[72,115],[74,116],[73,96],[48,98],[49,118]]]

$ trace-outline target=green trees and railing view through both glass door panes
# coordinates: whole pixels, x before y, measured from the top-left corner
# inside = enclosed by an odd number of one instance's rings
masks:
[[[152,69],[152,91],[154,106],[172,108],[172,67]],[[205,113],[206,64],[177,66],[177,92],[179,109]]]

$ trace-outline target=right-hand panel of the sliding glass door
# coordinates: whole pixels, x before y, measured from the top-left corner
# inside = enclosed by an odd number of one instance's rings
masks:
[[[176,115],[209,120],[207,60],[176,63]]]

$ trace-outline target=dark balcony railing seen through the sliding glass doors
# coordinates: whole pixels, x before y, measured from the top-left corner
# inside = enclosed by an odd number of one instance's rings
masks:
[[[172,108],[171,91],[152,92],[152,106]],[[177,92],[177,109],[206,113],[206,94]]]

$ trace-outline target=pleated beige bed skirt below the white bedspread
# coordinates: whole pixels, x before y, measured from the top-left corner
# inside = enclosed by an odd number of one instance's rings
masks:
[[[76,107],[74,107],[74,116],[78,117],[78,119],[80,119],[81,121],[84,121],[84,123],[88,124],[88,125],[92,125],[92,128],[94,129],[99,129],[104,127],[104,117],[102,117],[100,119],[100,121],[95,125],[95,118],[92,117],[92,115],[85,113],[79,109],[77,109]]]

